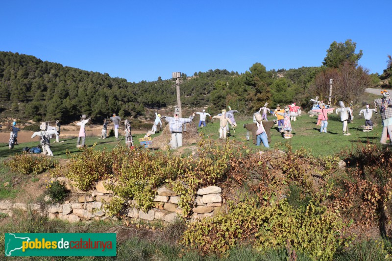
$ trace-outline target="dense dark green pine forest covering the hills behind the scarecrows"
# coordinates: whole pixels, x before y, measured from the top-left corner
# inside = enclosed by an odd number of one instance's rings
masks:
[[[293,101],[306,105],[310,83],[321,67],[275,70],[255,63],[239,74],[227,70],[182,74],[183,106],[209,106],[212,113],[224,106],[252,113],[265,102]],[[157,109],[176,104],[172,80],[128,82],[107,73],[83,71],[61,64],[44,62],[34,56],[0,52],[0,112],[2,117],[70,122],[81,114],[98,122],[118,112],[122,117],[140,117],[146,108]]]

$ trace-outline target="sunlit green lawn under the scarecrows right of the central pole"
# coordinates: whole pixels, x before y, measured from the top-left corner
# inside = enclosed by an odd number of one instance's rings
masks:
[[[285,140],[278,132],[278,127],[274,126],[271,129],[271,143],[270,147],[277,146],[284,149],[285,143],[290,142],[294,150],[301,147],[312,149],[313,155],[315,156],[326,156],[333,155],[341,150],[351,149],[356,142],[376,142],[378,143],[382,132],[381,119],[379,116],[375,117],[373,114],[373,122],[377,123],[377,126],[373,127],[371,132],[363,132],[361,125],[365,124],[363,116],[359,117],[358,112],[354,109],[354,121],[348,124],[349,132],[351,136],[343,136],[343,124],[340,121],[340,115],[329,114],[328,118],[328,133],[320,133],[320,126],[316,126],[317,117],[309,117],[309,115],[303,115],[297,117],[296,121],[292,121],[293,138]],[[268,117],[269,120],[274,117]],[[240,119],[237,120],[237,127],[235,133],[231,131],[229,140],[245,142],[252,150],[262,150],[264,147],[257,147],[253,145],[251,140],[251,133],[249,141],[246,141],[246,129],[243,127],[244,123],[251,123],[252,118],[248,120]],[[219,133],[219,122],[215,121],[210,123],[205,128],[200,128],[199,131],[205,133],[206,136],[212,139],[218,139]]]

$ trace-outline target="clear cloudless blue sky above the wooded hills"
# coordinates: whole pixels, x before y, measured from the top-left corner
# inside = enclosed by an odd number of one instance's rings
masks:
[[[391,10],[391,0],[2,1],[0,51],[140,82],[320,66],[333,41],[352,39],[359,64],[381,74]]]

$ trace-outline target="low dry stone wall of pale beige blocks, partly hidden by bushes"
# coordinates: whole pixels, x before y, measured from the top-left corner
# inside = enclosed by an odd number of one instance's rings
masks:
[[[69,189],[73,189],[66,178],[60,177],[57,180],[64,181]],[[64,204],[25,204],[14,203],[10,200],[0,200],[0,213],[12,216],[15,210],[31,211],[47,216],[49,219],[58,218],[69,222],[104,220],[108,218],[117,219],[116,217],[108,216],[105,212],[104,204],[110,202],[115,195],[113,191],[105,189],[103,181],[98,182],[96,189],[88,193],[80,190],[73,191],[79,192],[78,196],[72,201],[66,201]],[[46,200],[49,199],[46,198]],[[128,203],[136,207],[127,209],[125,214],[136,220],[161,220],[172,223],[182,214],[182,209],[178,206],[179,200],[177,193],[162,187],[157,190],[157,195],[154,198],[155,208],[146,213],[139,210],[136,202],[133,201]],[[191,220],[214,216],[221,211],[222,204],[221,188],[211,186],[198,190]]]

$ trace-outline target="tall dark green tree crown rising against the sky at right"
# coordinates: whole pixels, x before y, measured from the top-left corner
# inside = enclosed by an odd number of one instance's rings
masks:
[[[357,66],[359,59],[362,57],[362,50],[355,53],[357,43],[347,39],[344,43],[334,41],[327,49],[327,56],[324,58],[323,65],[328,68],[338,68],[348,61],[350,64]]]

